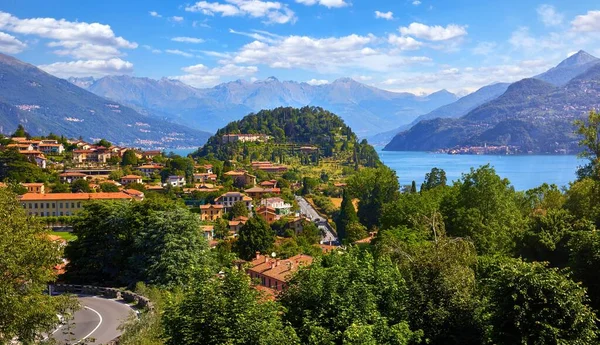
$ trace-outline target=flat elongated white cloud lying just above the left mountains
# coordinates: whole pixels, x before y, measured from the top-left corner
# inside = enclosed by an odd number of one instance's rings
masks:
[[[105,75],[123,75],[133,73],[133,64],[121,59],[78,60],[55,62],[38,66],[57,77],[103,77]]]

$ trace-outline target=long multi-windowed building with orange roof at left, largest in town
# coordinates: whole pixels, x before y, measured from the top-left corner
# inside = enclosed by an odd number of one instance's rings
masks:
[[[27,214],[40,217],[71,216],[81,210],[90,200],[131,200],[128,194],[117,193],[26,193],[19,202]]]

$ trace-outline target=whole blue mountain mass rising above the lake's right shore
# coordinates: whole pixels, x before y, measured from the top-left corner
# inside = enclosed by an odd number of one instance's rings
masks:
[[[445,108],[456,108],[461,100]],[[545,73],[510,84],[500,96],[462,116],[419,121],[397,134],[385,150],[508,145],[521,152],[575,152],[573,121],[599,107],[600,60],[580,51]]]

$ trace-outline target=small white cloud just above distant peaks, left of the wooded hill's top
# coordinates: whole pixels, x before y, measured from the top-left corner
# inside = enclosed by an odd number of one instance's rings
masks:
[[[227,64],[215,68],[203,64],[187,66],[181,69],[185,75],[170,77],[195,87],[212,87],[222,82],[222,77],[245,78],[258,72],[255,66]]]

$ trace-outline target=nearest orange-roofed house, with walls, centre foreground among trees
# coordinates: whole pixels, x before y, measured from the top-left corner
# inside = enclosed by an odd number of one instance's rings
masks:
[[[288,279],[298,269],[310,266],[312,262],[313,258],[311,256],[302,254],[279,260],[257,253],[254,260],[249,262],[246,273],[250,275],[250,278],[257,279],[261,286],[275,291],[282,291],[285,289]]]

